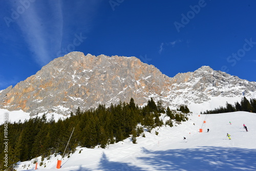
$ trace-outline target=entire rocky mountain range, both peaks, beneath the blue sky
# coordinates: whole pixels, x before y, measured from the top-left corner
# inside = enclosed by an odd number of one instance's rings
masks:
[[[119,101],[143,105],[148,99],[164,105],[202,103],[211,97],[255,97],[256,82],[249,82],[203,66],[170,78],[136,57],[93,56],[71,52],[42,67],[15,87],[0,92],[0,108],[31,115],[58,112],[68,115],[78,106],[95,108]]]

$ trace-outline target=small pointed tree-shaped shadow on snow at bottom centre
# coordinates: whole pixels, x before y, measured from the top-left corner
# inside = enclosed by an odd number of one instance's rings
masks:
[[[138,170],[142,171],[140,167],[131,165],[129,163],[109,161],[108,157],[103,153],[98,166],[99,170],[116,171],[116,170]]]

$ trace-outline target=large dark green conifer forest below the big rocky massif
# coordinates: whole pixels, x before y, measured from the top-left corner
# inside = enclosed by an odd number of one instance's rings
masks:
[[[139,107],[133,98],[130,103],[119,102],[111,104],[108,108],[99,105],[97,109],[80,111],[65,120],[55,121],[52,117],[46,119],[34,117],[25,122],[8,123],[8,165],[14,170],[15,163],[27,161],[42,156],[47,158],[53,154],[62,155],[70,139],[67,151],[69,155],[75,151],[77,146],[94,148],[99,145],[102,148],[132,137],[136,143],[136,137],[144,136],[143,132],[164,124],[173,126],[173,122],[186,121],[186,114],[189,113],[187,106],[181,106],[178,111],[164,109],[161,102],[148,100],[147,104]],[[166,123],[160,119],[160,115],[169,116]],[[0,125],[0,132],[4,132],[4,124]],[[0,135],[0,161],[4,160],[4,134]],[[0,168],[3,165],[0,164]]]

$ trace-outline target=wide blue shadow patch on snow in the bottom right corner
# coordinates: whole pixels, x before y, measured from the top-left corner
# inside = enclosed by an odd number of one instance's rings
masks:
[[[256,170],[256,149],[202,146],[142,152],[147,156],[137,160],[155,170]]]

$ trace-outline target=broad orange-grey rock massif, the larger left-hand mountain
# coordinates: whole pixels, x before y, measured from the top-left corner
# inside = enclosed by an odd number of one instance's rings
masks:
[[[169,79],[136,57],[71,52],[3,91],[0,108],[22,109],[31,115],[53,111],[69,114],[78,106],[89,109],[129,102],[132,97],[142,105],[151,95],[168,90]]]

